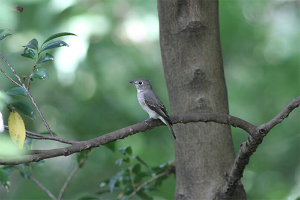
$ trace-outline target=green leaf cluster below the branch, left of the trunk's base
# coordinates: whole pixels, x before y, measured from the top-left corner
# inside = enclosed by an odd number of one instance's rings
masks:
[[[136,192],[141,199],[153,199],[149,192],[156,191],[157,186],[161,186],[162,182],[168,179],[171,171],[171,163],[165,163],[155,167],[149,165],[137,155],[133,155],[131,146],[118,149],[123,155],[115,161],[115,164],[122,167],[110,179],[104,180],[99,184],[100,191],[96,195],[88,195],[81,197],[80,200],[100,199],[100,196],[108,192],[117,192],[119,199],[128,199],[129,196]],[[168,172],[168,173],[165,173]],[[145,182],[157,175],[165,173],[150,184]]]

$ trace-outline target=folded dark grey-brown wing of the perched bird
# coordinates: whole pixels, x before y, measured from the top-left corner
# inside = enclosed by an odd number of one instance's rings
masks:
[[[154,96],[155,98],[151,96]],[[170,125],[173,124],[168,115],[166,107],[154,92],[151,95],[145,94],[145,103],[151,110],[162,116]]]

